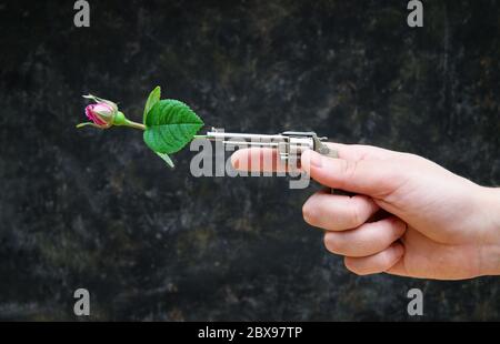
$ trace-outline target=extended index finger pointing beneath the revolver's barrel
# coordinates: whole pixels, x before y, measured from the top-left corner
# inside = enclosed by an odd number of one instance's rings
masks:
[[[248,148],[232,153],[231,164],[234,170],[249,172],[286,172],[287,163],[278,151],[270,148]]]

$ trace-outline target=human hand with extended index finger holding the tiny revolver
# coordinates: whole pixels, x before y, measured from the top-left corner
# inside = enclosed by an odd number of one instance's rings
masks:
[[[339,159],[307,151],[301,169],[356,195],[320,191],[302,212],[306,222],[326,230],[324,245],[343,255],[350,271],[438,280],[500,274],[500,189],[418,155],[329,144]],[[284,169],[269,149],[239,150],[231,162],[251,170],[254,159],[272,159],[273,170]]]

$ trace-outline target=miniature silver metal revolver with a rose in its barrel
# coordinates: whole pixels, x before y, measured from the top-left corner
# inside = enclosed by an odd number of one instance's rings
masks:
[[[270,135],[228,133],[212,128],[204,138],[210,141],[222,141],[224,146],[276,149],[282,161],[300,160],[300,155],[306,150],[313,150],[326,156],[337,158],[337,151],[323,143],[327,138],[319,138],[312,131],[286,131],[280,134]]]

